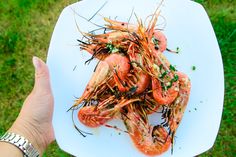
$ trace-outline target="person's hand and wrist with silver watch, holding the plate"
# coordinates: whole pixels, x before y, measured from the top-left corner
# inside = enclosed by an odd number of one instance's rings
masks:
[[[54,141],[53,94],[47,65],[33,57],[35,84],[10,127],[0,136],[0,157],[39,157]]]

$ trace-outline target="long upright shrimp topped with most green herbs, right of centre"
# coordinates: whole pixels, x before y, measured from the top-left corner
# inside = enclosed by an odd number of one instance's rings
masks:
[[[175,100],[178,95],[179,84],[175,70],[171,68],[169,61],[161,51],[155,49],[152,40],[157,16],[158,14],[150,22],[148,29],[139,24],[136,36],[137,48],[140,49],[142,63],[146,65],[143,66],[143,71],[152,77],[153,97],[159,104],[164,105],[170,104]]]

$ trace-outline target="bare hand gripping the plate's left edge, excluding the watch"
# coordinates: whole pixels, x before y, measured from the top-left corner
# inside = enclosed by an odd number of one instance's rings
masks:
[[[47,65],[33,57],[35,85],[9,132],[27,138],[42,155],[54,140],[52,127],[53,95]]]

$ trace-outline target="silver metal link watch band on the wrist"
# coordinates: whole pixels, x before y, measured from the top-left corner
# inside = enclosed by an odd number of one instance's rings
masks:
[[[7,132],[0,137],[0,141],[13,144],[23,152],[24,157],[39,157],[39,152],[23,136]]]

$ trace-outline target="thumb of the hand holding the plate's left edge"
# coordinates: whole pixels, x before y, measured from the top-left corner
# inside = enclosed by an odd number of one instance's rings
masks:
[[[47,65],[38,57],[34,56],[32,60],[35,68],[34,90],[43,93],[51,91]]]

